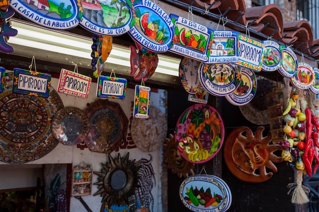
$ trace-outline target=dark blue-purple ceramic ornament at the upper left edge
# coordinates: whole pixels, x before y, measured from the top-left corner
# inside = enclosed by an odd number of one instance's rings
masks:
[[[10,1],[7,3],[9,4]],[[1,24],[1,32],[0,32],[0,50],[5,53],[11,53],[14,51],[14,48],[10,46],[7,42],[9,37],[16,36],[18,31],[14,28],[11,28],[8,23],[10,23],[10,18],[14,15],[14,11],[12,8],[8,8],[8,5],[2,6],[0,10],[0,20]]]

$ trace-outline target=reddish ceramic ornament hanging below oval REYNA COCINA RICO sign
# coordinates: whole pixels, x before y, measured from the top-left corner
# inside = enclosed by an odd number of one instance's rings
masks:
[[[148,80],[155,72],[158,65],[156,52],[146,49],[135,41],[137,49],[130,45],[130,75],[135,75],[135,80]],[[139,70],[139,71],[138,71]],[[137,72],[138,71],[138,72]]]

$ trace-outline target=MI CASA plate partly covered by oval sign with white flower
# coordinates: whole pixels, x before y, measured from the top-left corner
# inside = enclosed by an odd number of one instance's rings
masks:
[[[241,68],[242,80],[238,88],[230,95],[225,96],[228,102],[241,106],[249,103],[257,90],[256,75],[252,70]]]

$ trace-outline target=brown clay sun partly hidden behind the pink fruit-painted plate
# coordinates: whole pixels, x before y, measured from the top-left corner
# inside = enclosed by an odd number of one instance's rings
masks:
[[[172,169],[172,173],[176,173],[179,178],[195,174],[195,164],[185,160],[180,155],[172,134],[169,135],[169,138],[165,139],[163,156],[165,162],[168,163],[167,168]]]

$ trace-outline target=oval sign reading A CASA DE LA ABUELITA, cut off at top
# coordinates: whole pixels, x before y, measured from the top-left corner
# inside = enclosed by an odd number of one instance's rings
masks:
[[[78,22],[78,8],[75,0],[30,1],[11,0],[10,6],[25,19],[53,29],[70,29]]]

